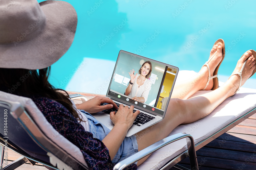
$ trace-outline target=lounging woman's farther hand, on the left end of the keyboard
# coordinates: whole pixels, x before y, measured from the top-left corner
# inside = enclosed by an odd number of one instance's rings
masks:
[[[101,106],[101,103],[109,103],[107,105],[103,105]],[[100,96],[96,96],[86,102],[83,102],[81,104],[76,104],[77,109],[81,109],[84,110],[88,113],[97,113],[100,112],[102,110],[106,110],[106,109],[110,109],[110,108],[116,108],[118,109],[118,107],[116,106],[116,104],[113,102],[113,100],[111,100],[110,98],[107,97],[100,97]]]

